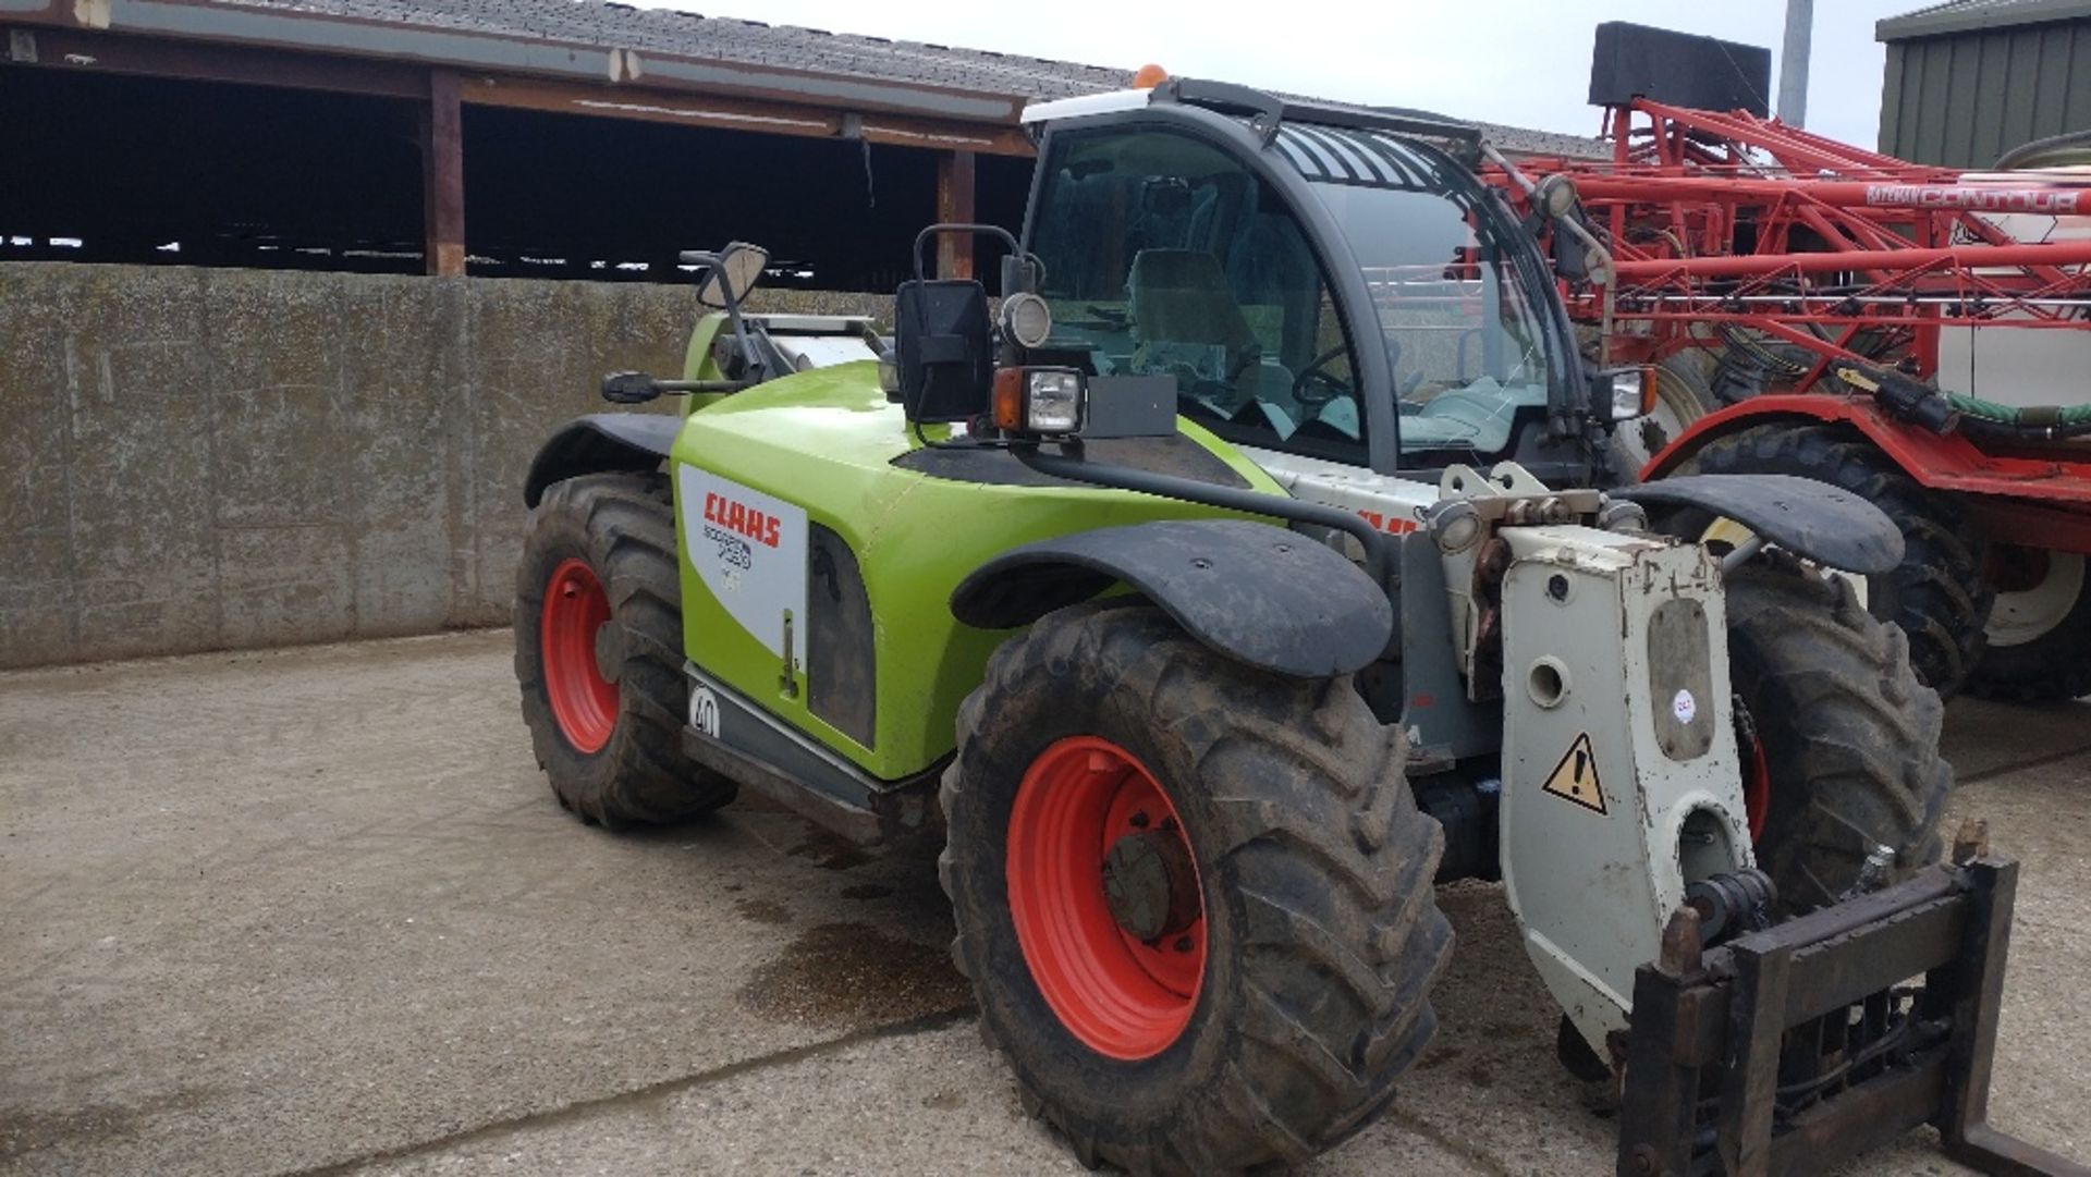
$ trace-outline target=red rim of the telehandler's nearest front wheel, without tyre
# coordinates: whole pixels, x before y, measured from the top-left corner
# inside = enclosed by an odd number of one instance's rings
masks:
[[[1198,1003],[1204,897],[1154,774],[1096,736],[1046,748],[1016,786],[1008,886],[1025,964],[1069,1033],[1108,1058],[1169,1049]],[[1152,926],[1129,928],[1125,907]]]

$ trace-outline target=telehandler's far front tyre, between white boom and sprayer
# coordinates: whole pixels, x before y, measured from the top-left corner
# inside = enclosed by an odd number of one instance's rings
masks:
[[[1727,659],[1750,834],[1788,911],[1842,899],[1878,847],[1880,882],[1938,861],[1945,707],[1901,629],[1844,577],[1761,556],[1727,575]]]

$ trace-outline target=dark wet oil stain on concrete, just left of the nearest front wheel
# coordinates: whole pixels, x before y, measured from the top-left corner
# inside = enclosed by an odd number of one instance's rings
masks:
[[[780,1022],[901,1022],[962,1008],[972,991],[939,945],[868,924],[807,928],[740,987],[740,1001]]]

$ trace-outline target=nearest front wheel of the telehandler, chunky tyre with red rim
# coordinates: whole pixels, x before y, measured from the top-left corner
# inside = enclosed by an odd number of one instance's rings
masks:
[[[1085,1164],[1294,1164],[1393,1100],[1451,949],[1405,757],[1349,677],[1242,667],[1144,604],[993,656],[943,778],[951,955]]]

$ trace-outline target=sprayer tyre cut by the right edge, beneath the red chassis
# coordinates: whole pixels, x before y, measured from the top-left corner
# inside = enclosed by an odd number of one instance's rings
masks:
[[[1997,546],[1989,646],[1968,692],[2012,702],[2060,702],[2091,694],[2091,560],[2076,552]]]

